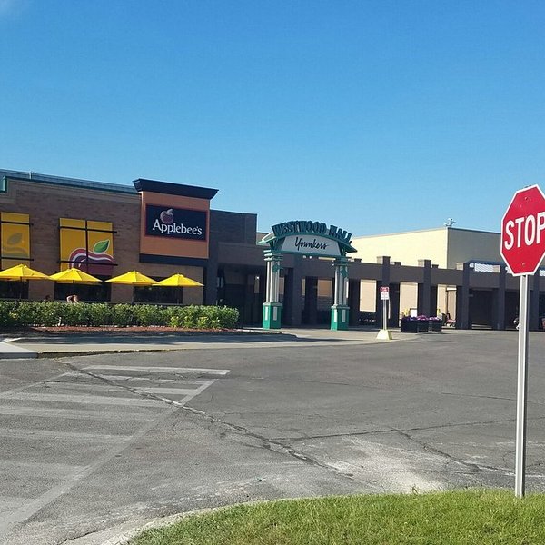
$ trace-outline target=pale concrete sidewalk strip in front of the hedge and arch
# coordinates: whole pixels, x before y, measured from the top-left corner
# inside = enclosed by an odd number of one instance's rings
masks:
[[[262,330],[260,328],[235,332],[28,332],[0,336],[0,360],[14,358],[45,358],[66,355],[87,355],[123,352],[159,352],[192,349],[225,349],[229,347],[277,347],[279,345],[311,342],[352,344],[384,342],[376,338],[378,330],[329,329]],[[413,339],[414,334],[394,330],[393,340]],[[386,341],[388,342],[388,341]]]

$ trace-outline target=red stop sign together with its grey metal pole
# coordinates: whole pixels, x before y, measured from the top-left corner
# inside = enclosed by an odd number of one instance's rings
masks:
[[[545,255],[545,195],[537,185],[521,189],[511,199],[501,221],[500,253],[513,276],[520,276],[515,495],[521,498],[526,477],[528,276],[535,274]]]

